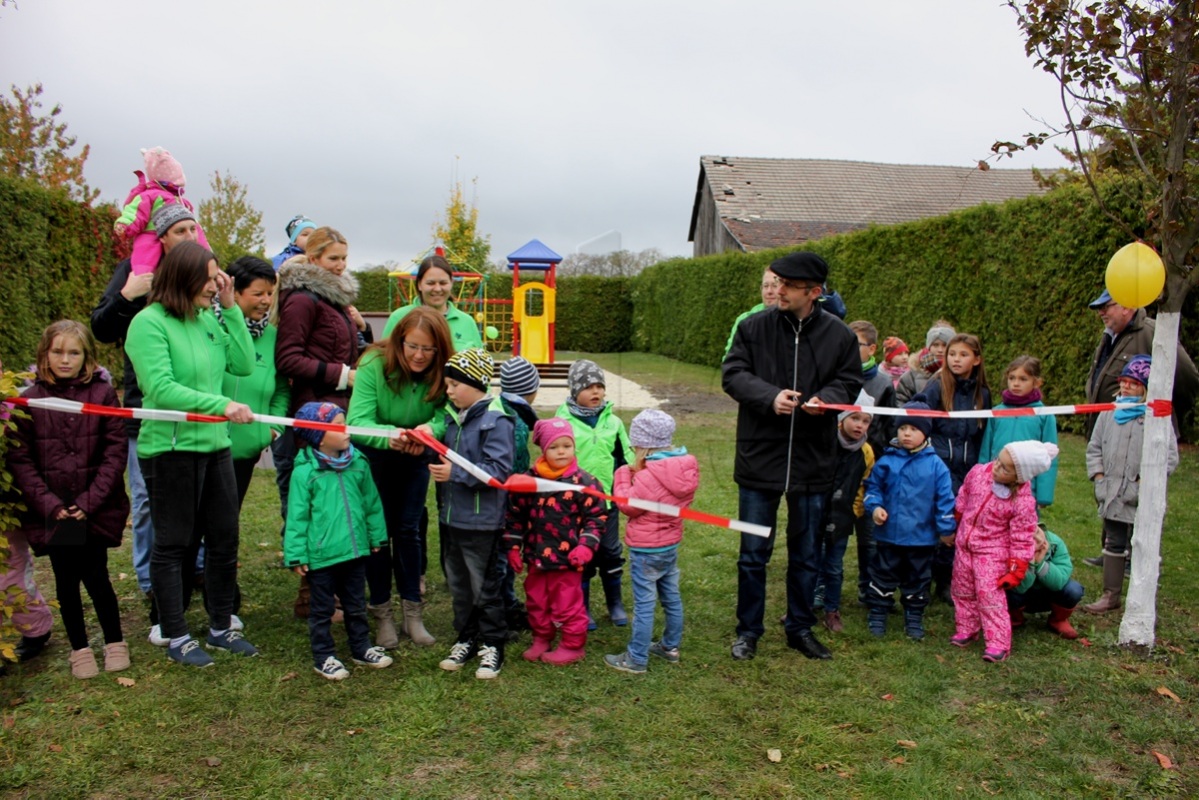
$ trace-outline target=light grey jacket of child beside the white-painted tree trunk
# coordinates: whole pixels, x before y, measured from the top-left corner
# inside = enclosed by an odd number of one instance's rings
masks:
[[[1149,413],[1149,411],[1146,411]],[[1103,411],[1095,422],[1086,445],[1086,475],[1095,480],[1095,500],[1099,516],[1114,522],[1135,522],[1140,494],[1140,450],[1145,441],[1145,417],[1116,425],[1115,411]],[[1179,465],[1179,446],[1168,438],[1165,471]]]

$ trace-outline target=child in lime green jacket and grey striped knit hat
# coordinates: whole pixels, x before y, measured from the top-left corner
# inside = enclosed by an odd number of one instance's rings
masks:
[[[566,381],[571,396],[554,416],[562,417],[574,428],[574,450],[579,469],[594,475],[603,491],[611,494],[611,479],[616,470],[633,463],[633,446],[628,443],[625,422],[616,416],[615,407],[607,399],[607,380],[595,361],[579,359],[571,365]],[[620,548],[620,513],[615,505],[608,509],[608,527],[600,541],[600,552],[583,572],[583,603],[591,615],[591,578],[596,572],[603,582],[608,601],[608,618],[613,625],[628,625],[628,614],[620,597],[625,558]],[[596,630],[595,620],[588,630]]]

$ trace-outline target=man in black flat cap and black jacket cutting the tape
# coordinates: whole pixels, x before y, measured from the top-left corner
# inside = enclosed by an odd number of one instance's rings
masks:
[[[747,317],[724,357],[724,391],[737,410],[733,479],[739,516],[775,527],[787,499],[788,646],[808,658],[832,654],[812,633],[817,618],[817,537],[832,491],[837,415],[824,403],[852,403],[862,386],[857,337],[818,302],[829,265],[799,252],[770,265],[778,277],[778,305]],[[737,638],[733,657],[753,658],[765,632],[766,565],[777,531],[741,535],[737,559]]]

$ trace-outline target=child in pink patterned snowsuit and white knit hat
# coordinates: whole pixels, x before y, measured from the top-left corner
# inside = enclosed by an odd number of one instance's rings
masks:
[[[983,661],[1006,661],[1012,620],[1005,590],[1024,581],[1032,560],[1037,500],[1029,486],[1053,464],[1058,446],[1013,441],[988,464],[976,464],[958,491],[954,536],[953,615],[950,644],[964,648],[982,630]]]

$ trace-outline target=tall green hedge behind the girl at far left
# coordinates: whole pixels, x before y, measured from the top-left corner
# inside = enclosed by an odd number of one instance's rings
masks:
[[[85,206],[64,192],[0,175],[0,361],[24,367],[47,325],[88,323],[127,252],[113,235],[110,206]],[[120,366],[109,349],[102,362]]]

